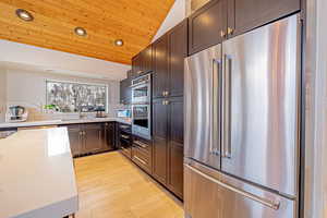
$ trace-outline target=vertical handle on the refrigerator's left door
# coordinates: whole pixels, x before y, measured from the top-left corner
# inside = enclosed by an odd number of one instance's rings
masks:
[[[213,105],[210,120],[210,154],[220,156],[221,59],[213,59]]]

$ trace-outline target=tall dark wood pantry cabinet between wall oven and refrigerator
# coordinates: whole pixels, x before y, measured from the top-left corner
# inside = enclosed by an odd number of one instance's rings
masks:
[[[184,58],[187,20],[153,45],[153,177],[183,197]]]

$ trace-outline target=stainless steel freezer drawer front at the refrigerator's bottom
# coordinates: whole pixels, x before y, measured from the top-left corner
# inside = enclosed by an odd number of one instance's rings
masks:
[[[192,218],[295,218],[296,202],[186,160],[184,209]]]

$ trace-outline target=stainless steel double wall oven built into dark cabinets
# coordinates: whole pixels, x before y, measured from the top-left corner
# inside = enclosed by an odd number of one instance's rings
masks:
[[[132,133],[152,138],[152,75],[132,81]]]

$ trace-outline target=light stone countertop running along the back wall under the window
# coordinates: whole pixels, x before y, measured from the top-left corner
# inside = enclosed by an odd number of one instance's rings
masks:
[[[72,120],[44,120],[44,121],[27,121],[27,122],[13,122],[13,123],[0,123],[0,129],[4,128],[29,128],[41,125],[63,125],[63,124],[77,124],[77,123],[95,123],[95,122],[121,122],[124,124],[131,124],[130,119],[123,118],[88,118],[88,119],[72,119]]]

